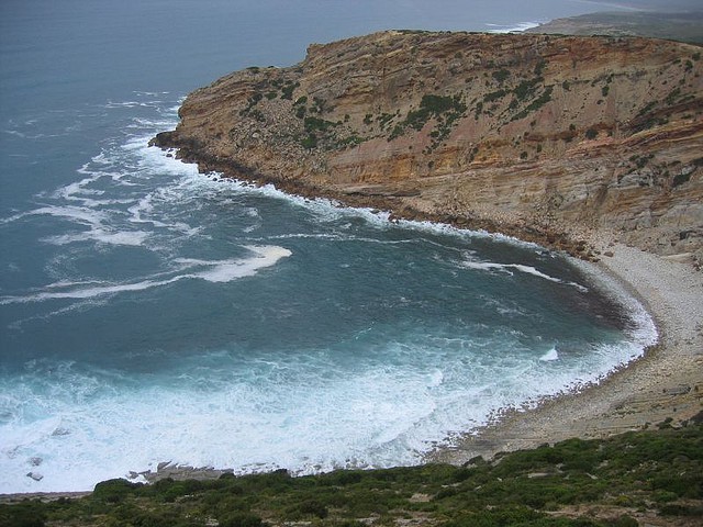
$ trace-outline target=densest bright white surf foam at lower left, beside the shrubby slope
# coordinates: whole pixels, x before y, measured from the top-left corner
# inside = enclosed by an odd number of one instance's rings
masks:
[[[312,385],[233,380],[222,391],[200,393],[145,384],[134,393],[86,397],[72,407],[68,399],[76,397],[69,394],[55,405],[60,416],[16,424],[2,434],[0,467],[10,476],[0,492],[89,489],[100,479],[155,468],[166,459],[242,472],[281,466],[314,471],[312,461],[326,469],[350,463],[362,459],[369,445],[392,441],[409,422],[433,410],[403,397],[399,380],[380,377],[337,378],[333,384],[309,379]],[[417,382],[404,380],[411,390]],[[65,433],[54,435],[58,428]],[[43,460],[41,482],[24,478],[32,458]]]

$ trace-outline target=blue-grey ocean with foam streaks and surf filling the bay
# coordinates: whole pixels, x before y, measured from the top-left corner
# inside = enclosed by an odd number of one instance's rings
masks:
[[[158,463],[415,464],[656,338],[563,255],[198,173],[185,96],[382,29],[507,31],[594,2],[3,0],[0,493]]]

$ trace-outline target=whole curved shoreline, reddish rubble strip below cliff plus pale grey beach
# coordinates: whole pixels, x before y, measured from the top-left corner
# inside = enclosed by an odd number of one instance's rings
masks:
[[[670,426],[681,426],[692,418],[703,419],[703,301],[700,300],[703,299],[703,271],[698,270],[690,254],[658,256],[618,242],[612,232],[577,224],[561,224],[557,229],[553,225],[524,221],[506,222],[492,215],[468,220],[423,210],[419,201],[411,204],[395,195],[310,188],[258,173],[244,175],[226,164],[202,162],[188,157],[181,161],[199,165],[203,177],[215,171],[219,179],[255,186],[274,184],[287,194],[305,199],[333,200],[345,208],[386,210],[390,221],[427,221],[459,229],[484,231],[563,251],[588,266],[587,272],[615,282],[654,319],[658,339],[643,356],[613,370],[595,384],[545,397],[528,410],[499,411],[488,425],[458,433],[459,439],[425,453],[423,463],[461,466],[478,456],[491,459],[502,452],[570,438],[605,438],[657,426],[667,419]],[[132,481],[209,480],[226,472],[231,473],[232,469],[159,463],[156,471],[140,472],[142,478]],[[54,501],[90,493],[9,493],[0,494],[0,503],[26,498]]]

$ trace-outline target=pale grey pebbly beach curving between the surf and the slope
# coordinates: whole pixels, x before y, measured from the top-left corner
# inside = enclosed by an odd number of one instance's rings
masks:
[[[667,419],[679,426],[703,411],[703,273],[687,255],[660,257],[602,235],[592,243],[603,255],[598,268],[655,318],[658,344],[598,385],[507,412],[431,459],[461,464],[476,456],[603,438]]]

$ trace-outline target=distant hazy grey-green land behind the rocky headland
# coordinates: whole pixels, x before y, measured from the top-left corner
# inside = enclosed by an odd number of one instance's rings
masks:
[[[578,36],[647,36],[703,44],[703,4],[698,7],[698,11],[613,11],[582,14],[556,19],[526,32]]]

